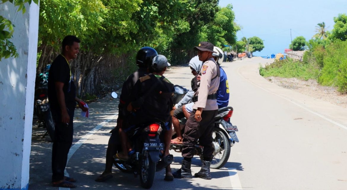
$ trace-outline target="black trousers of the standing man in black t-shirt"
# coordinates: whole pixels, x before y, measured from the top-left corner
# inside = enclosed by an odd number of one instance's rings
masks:
[[[56,129],[52,147],[52,182],[64,179],[67,155],[72,145],[74,133],[74,111],[74,108],[68,110],[70,122],[66,126],[66,124],[61,122],[60,109],[51,109]]]

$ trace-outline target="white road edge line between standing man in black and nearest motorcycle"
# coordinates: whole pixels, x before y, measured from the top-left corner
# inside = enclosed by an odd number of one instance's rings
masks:
[[[94,127],[92,130],[90,130],[86,135],[84,135],[81,139],[79,139],[79,141],[77,141],[74,146],[72,146],[70,148],[69,154],[67,155],[67,163],[69,162],[71,156],[77,151],[77,149],[79,147],[82,146],[83,143],[85,143],[92,135],[94,135],[94,133],[98,132],[98,130],[103,127],[105,124],[109,123],[110,121],[112,121],[113,119],[115,119],[115,117],[118,115],[112,115],[110,116],[108,119],[104,120],[103,122],[101,122],[101,124],[97,125],[96,127]],[[66,163],[66,165],[67,165]],[[67,173],[66,169],[64,171],[64,175],[66,177],[69,177],[69,173]],[[59,187],[59,190],[69,190],[70,188],[64,188],[64,187]]]

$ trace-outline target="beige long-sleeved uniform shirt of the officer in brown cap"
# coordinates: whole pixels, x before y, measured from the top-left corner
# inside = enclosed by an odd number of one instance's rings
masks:
[[[201,71],[199,72],[197,77],[197,82],[198,84],[200,83],[200,86],[194,94],[194,96],[198,97],[198,100],[194,103],[193,109],[197,109],[197,108],[204,108],[203,110],[218,109],[216,99],[212,99],[212,100],[207,99],[207,96],[209,94],[214,94],[218,90],[220,77],[217,76],[218,75],[217,69],[219,69],[219,67],[214,62],[213,58],[210,58],[208,61],[203,63],[201,67]]]

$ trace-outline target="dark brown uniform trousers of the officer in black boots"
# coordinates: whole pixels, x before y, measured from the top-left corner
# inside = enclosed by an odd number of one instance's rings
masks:
[[[196,110],[192,111],[184,128],[182,156],[192,158],[195,154],[196,142],[199,139],[199,144],[204,147],[203,156],[210,157],[214,151],[212,132],[214,117],[218,110],[203,110],[200,122],[195,120],[195,112]]]

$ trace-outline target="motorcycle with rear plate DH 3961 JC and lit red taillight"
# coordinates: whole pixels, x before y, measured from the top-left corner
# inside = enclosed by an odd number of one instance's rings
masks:
[[[112,92],[111,96],[117,98],[118,94]],[[171,156],[164,159],[160,157],[161,151],[164,150],[164,143],[159,138],[163,127],[164,123],[155,118],[151,123],[134,127],[129,136],[134,153],[126,161],[115,159],[113,162],[122,172],[132,172],[134,177],[140,175],[141,186],[146,189],[152,187],[155,172],[162,170],[173,160]]]

